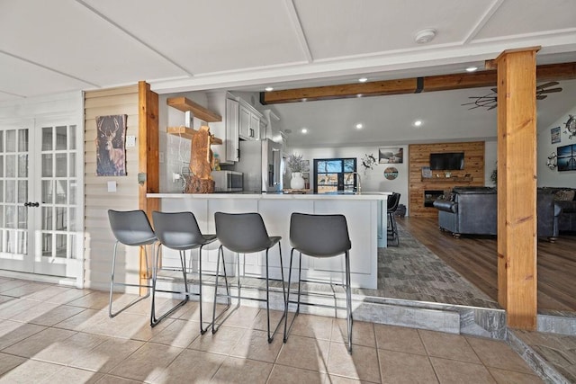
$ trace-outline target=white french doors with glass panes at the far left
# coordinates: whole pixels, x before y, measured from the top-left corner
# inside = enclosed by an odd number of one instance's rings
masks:
[[[0,127],[1,269],[79,276],[77,129],[67,119]]]

